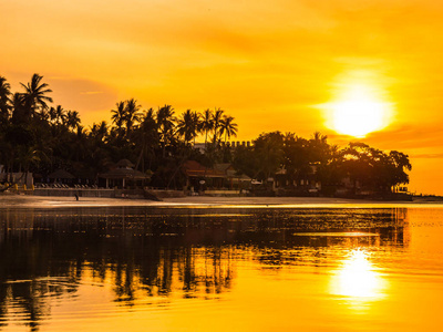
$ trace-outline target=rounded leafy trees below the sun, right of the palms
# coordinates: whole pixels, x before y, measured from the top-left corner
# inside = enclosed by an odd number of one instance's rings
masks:
[[[406,172],[412,169],[409,156],[401,152],[385,153],[360,142],[340,148],[330,145],[319,132],[310,139],[295,133],[264,133],[251,147],[237,148],[233,164],[239,172],[262,180],[284,169],[282,178],[289,187],[321,183],[326,195],[333,195],[343,179],[349,183],[350,194],[358,194],[359,188],[391,193],[409,183]]]

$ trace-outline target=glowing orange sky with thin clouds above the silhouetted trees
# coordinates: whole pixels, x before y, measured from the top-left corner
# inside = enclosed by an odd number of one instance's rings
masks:
[[[2,0],[0,31],[12,90],[39,73],[85,125],[135,97],[177,113],[222,107],[239,139],[321,131],[344,144],[318,105],[346,77],[369,77],[393,117],[363,142],[408,153],[410,189],[443,195],[443,2]]]

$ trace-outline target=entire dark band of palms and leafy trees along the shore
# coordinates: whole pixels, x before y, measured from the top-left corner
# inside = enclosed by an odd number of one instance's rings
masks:
[[[389,191],[409,183],[408,155],[384,153],[362,143],[344,148],[328,144],[315,133],[310,139],[293,133],[264,133],[250,146],[231,147],[237,135],[234,117],[223,110],[187,110],[176,116],[171,105],[142,110],[132,98],[116,103],[112,123],[81,124],[76,111],[51,106],[51,90],[34,74],[22,91],[12,93],[0,76],[0,164],[4,172],[32,172],[42,176],[63,168],[79,178],[95,179],[120,159],[152,174],[155,187],[181,188],[183,164],[194,159],[212,167],[231,163],[239,174],[265,180],[285,169],[288,183],[313,176],[323,190],[347,177],[372,190]],[[205,152],[194,148],[204,139]]]

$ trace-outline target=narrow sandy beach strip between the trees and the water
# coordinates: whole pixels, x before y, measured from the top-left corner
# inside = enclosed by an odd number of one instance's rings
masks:
[[[4,208],[76,208],[76,207],[443,207],[443,201],[415,199],[414,201],[377,201],[368,199],[328,198],[328,197],[207,197],[186,196],[181,198],[165,198],[163,201],[128,198],[99,198],[66,196],[28,196],[0,195],[0,209]]]

